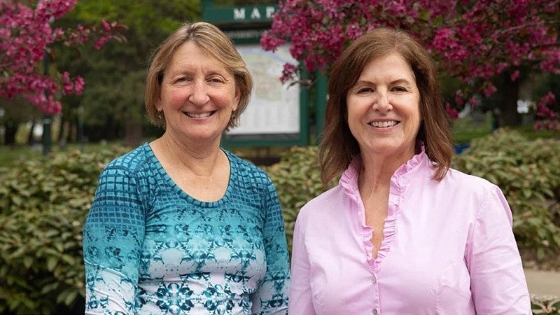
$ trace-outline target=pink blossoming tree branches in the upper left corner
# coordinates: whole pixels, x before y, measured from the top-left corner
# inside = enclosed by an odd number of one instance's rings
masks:
[[[60,94],[80,94],[84,80],[71,78],[69,72],[50,75],[41,63],[50,53],[49,45],[62,42],[67,46],[83,45],[96,40],[100,49],[114,38],[125,38],[118,31],[125,28],[105,20],[99,26],[78,25],[73,29],[52,28],[51,24],[76,5],[77,0],[37,0],[0,2],[0,97],[22,96],[44,113],[59,113]]]

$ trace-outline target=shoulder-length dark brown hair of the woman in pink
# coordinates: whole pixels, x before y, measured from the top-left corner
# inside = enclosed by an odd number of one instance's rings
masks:
[[[325,130],[319,147],[321,179],[327,184],[344,172],[360,154],[358,141],[348,126],[346,96],[358,81],[363,68],[372,59],[398,52],[411,66],[420,91],[422,122],[416,142],[425,146],[435,163],[434,179],[441,180],[454,155],[451,146],[450,119],[444,110],[436,69],[428,51],[412,36],[395,29],[374,29],[353,41],[339,56],[329,73]]]

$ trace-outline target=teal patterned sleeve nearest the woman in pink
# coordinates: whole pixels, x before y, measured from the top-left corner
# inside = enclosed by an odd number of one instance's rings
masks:
[[[268,176],[264,191],[265,224],[262,231],[267,271],[265,278],[251,295],[253,314],[287,314],[290,273],[288,246],[276,188]]]

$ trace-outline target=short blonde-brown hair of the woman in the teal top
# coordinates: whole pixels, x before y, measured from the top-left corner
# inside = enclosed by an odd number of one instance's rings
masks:
[[[253,78],[230,38],[218,27],[207,22],[183,23],[155,50],[155,55],[148,69],[146,97],[144,99],[150,120],[155,125],[165,127],[165,120],[158,119],[158,109],[156,109],[155,103],[160,98],[163,74],[169,66],[169,62],[171,62],[177,48],[188,41],[196,43],[200,49],[223,63],[226,69],[232,71],[235,78],[235,87],[239,88],[241,96],[239,97],[237,110],[232,113],[232,118],[225,130],[239,125],[239,116],[246,109],[251,97]]]

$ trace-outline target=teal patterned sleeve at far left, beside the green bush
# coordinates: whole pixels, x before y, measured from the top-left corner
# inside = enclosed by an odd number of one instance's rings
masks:
[[[84,225],[85,314],[132,314],[144,211],[137,179],[111,166],[99,176]]]

